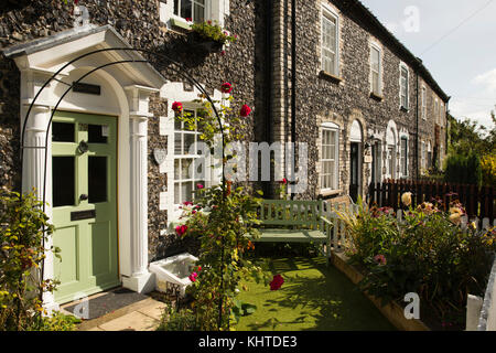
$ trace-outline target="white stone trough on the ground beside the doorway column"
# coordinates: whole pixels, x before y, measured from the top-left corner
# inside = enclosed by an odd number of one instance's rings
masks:
[[[151,263],[150,272],[155,274],[155,289],[170,292],[171,288],[179,286],[180,297],[183,298],[197,260],[197,257],[184,253]]]

